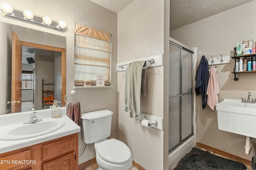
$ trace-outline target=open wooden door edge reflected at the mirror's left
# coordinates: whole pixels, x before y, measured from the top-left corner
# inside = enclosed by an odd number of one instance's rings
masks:
[[[22,46],[18,35],[12,32],[12,113],[21,112]]]

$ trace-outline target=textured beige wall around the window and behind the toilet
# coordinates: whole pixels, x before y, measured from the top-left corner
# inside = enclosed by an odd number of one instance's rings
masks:
[[[0,0],[0,3],[6,2]],[[117,14],[107,10],[89,0],[8,0],[13,8],[20,10],[29,9],[38,16],[49,16],[52,20],[64,20],[68,26],[66,33],[52,31],[43,27],[22,23],[0,17],[1,21],[14,23],[16,25],[29,27],[56,35],[66,37],[66,93],[74,89],[74,26],[75,22],[88,27],[94,27],[112,34],[111,54],[111,88],[86,88],[75,89],[81,96],[82,113],[109,109],[114,112],[112,116],[112,134],[110,138],[116,137],[117,127],[117,76],[115,73],[117,63]],[[2,44],[1,44],[2,47]],[[2,77],[2,72],[1,72]],[[79,151],[84,142],[79,137]],[[85,152],[79,158],[79,164],[95,157],[92,144],[88,145]]]

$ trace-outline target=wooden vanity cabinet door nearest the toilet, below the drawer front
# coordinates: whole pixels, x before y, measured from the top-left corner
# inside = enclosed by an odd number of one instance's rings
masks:
[[[72,152],[42,164],[43,170],[75,170],[76,153]]]

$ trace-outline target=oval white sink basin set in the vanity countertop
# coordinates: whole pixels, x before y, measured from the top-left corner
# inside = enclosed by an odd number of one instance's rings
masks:
[[[0,140],[17,141],[52,133],[65,124],[61,119],[43,119],[43,121],[29,124],[17,123],[1,127]]]

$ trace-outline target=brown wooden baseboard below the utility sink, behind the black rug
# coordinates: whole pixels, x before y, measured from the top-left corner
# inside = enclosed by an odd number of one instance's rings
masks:
[[[226,158],[229,158],[231,160],[234,160],[234,161],[237,161],[237,162],[241,162],[242,164],[245,164],[245,165],[248,165],[248,166],[252,166],[251,160],[248,160],[248,159],[245,159],[245,158],[241,158],[239,156],[236,156],[234,154],[225,152],[223,150],[219,150],[219,149],[216,149],[216,148],[213,148],[213,147],[210,147],[208,145],[204,145],[204,144],[198,143],[198,142],[196,142],[196,146],[200,147],[202,149],[205,149],[205,150],[209,150],[211,152],[214,152],[216,154],[219,154],[219,155],[224,156]]]

